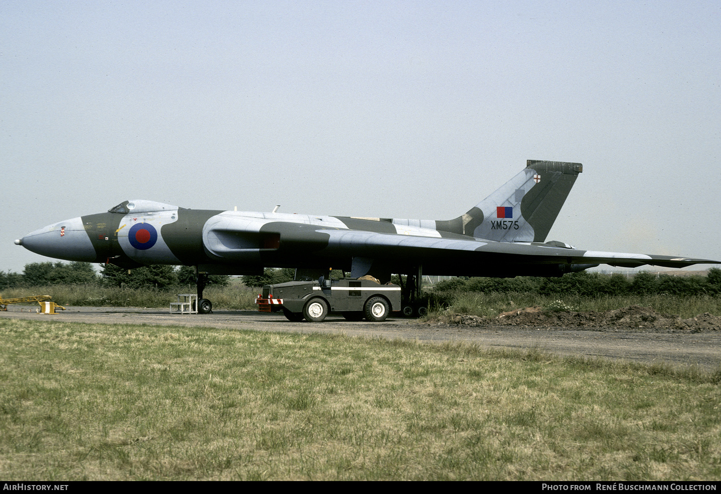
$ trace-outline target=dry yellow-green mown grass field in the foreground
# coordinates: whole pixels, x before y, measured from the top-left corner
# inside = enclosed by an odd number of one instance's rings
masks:
[[[0,319],[23,480],[714,480],[721,369]]]

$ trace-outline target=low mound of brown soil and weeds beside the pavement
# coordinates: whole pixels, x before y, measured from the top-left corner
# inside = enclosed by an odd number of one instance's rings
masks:
[[[632,305],[603,312],[550,312],[539,306],[503,312],[495,319],[468,315],[452,315],[449,323],[464,326],[562,326],[574,329],[615,327],[619,330],[651,330],[664,332],[721,331],[721,317],[708,312],[691,319],[659,314],[650,307]]]

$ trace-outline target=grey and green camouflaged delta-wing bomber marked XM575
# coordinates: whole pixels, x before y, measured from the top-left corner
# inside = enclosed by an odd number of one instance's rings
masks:
[[[298,268],[370,274],[381,283],[407,274],[404,309],[416,304],[423,274],[559,276],[599,264],[682,268],[720,261],[579,250],[546,237],[580,163],[528,160],[526,168],[461,216],[447,220],[206,211],[125,200],[107,213],[33,231],[15,243],[48,257],[122,268],[195,266],[199,312],[208,274]],[[277,209],[277,208],[276,208]],[[405,311],[404,311],[405,312]]]

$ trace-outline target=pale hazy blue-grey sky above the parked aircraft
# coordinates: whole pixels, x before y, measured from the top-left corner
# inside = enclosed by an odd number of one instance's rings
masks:
[[[716,1],[0,3],[0,270],[145,198],[450,219],[581,162],[549,239],[721,260]]]

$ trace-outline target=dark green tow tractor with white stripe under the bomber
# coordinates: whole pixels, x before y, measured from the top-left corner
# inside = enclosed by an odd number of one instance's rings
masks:
[[[386,320],[401,310],[401,287],[381,285],[357,278],[318,281],[288,281],[263,286],[255,303],[260,312],[278,312],[290,321],[321,322],[329,312],[341,312],[349,321],[364,317],[371,322]]]

